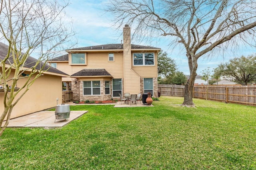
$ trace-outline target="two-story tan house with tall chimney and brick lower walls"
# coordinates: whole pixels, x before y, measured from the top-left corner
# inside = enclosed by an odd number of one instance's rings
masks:
[[[130,27],[123,28],[123,43],[68,49],[48,62],[69,74],[73,100],[104,101],[119,94],[151,92],[157,96],[157,54],[160,48],[131,44]]]

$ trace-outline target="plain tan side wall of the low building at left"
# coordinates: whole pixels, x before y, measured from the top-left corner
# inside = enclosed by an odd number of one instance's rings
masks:
[[[18,80],[18,87],[21,87],[26,78]],[[10,82],[11,83],[11,82]],[[40,76],[30,87],[28,92],[14,106],[11,118],[19,117],[36,111],[55,107],[62,102],[62,83],[60,76],[44,74]],[[0,113],[4,110],[4,92],[0,92]]]

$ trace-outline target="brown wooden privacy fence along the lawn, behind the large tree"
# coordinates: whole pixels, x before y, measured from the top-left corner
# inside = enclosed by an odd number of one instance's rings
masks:
[[[185,86],[158,84],[161,95],[184,97]],[[256,106],[256,86],[194,86],[193,98]]]

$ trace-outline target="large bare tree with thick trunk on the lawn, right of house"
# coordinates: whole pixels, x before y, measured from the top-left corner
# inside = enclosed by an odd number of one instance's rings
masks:
[[[140,39],[170,36],[170,44],[181,45],[190,70],[183,105],[194,106],[198,59],[214,49],[255,42],[255,9],[254,0],[110,0],[106,11],[114,16],[115,27],[129,24]]]

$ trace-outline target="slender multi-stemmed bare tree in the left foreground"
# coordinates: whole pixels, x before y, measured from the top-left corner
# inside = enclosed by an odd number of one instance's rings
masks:
[[[0,84],[4,89],[0,125],[6,117],[6,123],[0,126],[1,136],[13,107],[50,68],[46,61],[63,50],[64,43],[71,42],[74,31],[70,23],[64,22],[63,10],[68,4],[59,4],[58,0],[1,0],[0,3],[0,40],[8,47],[7,55],[0,58]],[[71,47],[71,43],[68,45],[67,48]],[[38,54],[38,60],[29,63],[31,53]],[[24,74],[27,71],[30,74]],[[16,91],[18,80],[24,77],[26,82]]]

